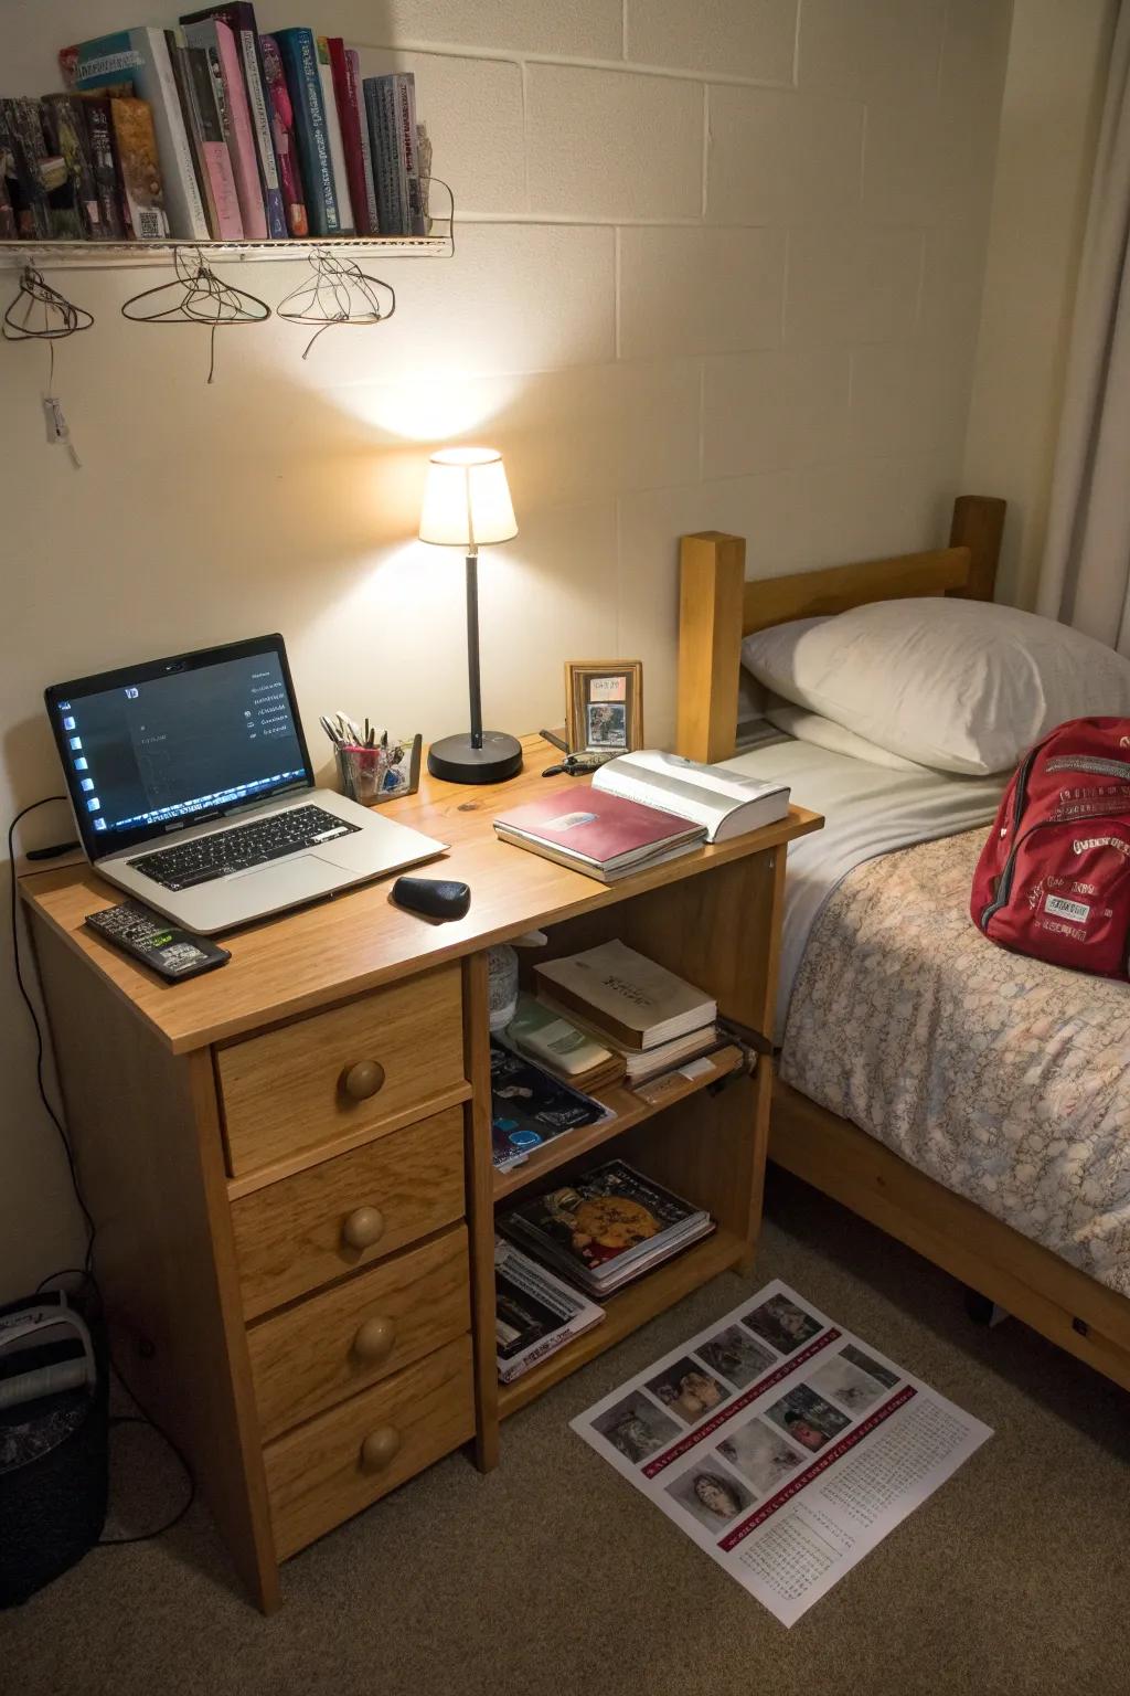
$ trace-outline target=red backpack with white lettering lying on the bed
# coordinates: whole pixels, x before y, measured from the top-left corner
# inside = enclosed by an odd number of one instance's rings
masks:
[[[969,902],[989,941],[1130,975],[1130,719],[1071,719],[1005,790]]]

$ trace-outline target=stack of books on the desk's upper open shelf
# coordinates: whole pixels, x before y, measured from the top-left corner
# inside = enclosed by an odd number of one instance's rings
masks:
[[[706,990],[622,941],[535,965],[539,1001],[617,1052],[644,1084],[718,1046],[718,1004]]]

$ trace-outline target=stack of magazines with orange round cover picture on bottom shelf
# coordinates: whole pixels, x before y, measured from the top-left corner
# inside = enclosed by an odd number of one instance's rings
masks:
[[[522,1202],[498,1230],[591,1296],[610,1296],[715,1230],[703,1208],[610,1160]]]

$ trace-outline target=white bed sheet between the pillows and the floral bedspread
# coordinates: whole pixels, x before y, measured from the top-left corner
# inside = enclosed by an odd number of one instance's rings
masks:
[[[778,1028],[781,1043],[789,996],[805,945],[825,902],[864,860],[988,826],[1008,775],[954,777],[949,772],[893,772],[766,728],[725,765],[751,777],[788,782],[793,802],[822,812],[825,826],[789,845],[781,934]]]

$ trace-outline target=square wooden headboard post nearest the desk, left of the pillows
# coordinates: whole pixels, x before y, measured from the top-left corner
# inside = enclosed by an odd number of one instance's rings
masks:
[[[701,531],[679,543],[679,704],[676,751],[728,760],[737,734],[745,539]]]

